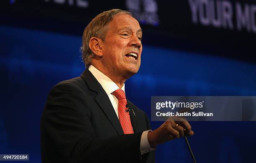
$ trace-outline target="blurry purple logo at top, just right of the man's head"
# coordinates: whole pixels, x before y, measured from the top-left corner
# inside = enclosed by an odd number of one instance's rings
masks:
[[[143,25],[159,25],[158,5],[155,0],[126,0],[126,7]]]

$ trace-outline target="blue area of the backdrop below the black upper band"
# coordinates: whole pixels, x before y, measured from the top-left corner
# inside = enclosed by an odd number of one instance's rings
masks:
[[[30,154],[29,162],[40,163],[44,103],[52,86],[83,72],[81,37],[7,26],[0,26],[0,36],[0,153]],[[143,44],[141,68],[126,81],[125,91],[150,117],[151,96],[256,96],[255,72],[253,63]],[[191,125],[198,163],[256,162],[255,122]],[[159,145],[156,162],[193,161],[180,138]]]

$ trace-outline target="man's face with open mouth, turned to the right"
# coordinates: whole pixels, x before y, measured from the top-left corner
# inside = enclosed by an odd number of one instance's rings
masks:
[[[141,65],[142,31],[128,14],[115,15],[102,46],[102,64],[112,75],[131,77]]]

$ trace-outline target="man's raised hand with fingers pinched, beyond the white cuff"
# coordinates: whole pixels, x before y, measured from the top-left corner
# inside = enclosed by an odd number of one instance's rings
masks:
[[[169,117],[159,128],[148,132],[148,143],[151,148],[156,148],[157,144],[192,135],[194,135],[194,131],[191,130],[186,119],[177,116]]]

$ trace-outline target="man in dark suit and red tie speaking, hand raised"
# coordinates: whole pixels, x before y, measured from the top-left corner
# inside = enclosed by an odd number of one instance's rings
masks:
[[[150,163],[154,148],[193,135],[187,121],[151,131],[147,115],[125,97],[125,81],[141,64],[142,30],[130,12],[97,15],[83,34],[80,77],[49,93],[41,119],[43,163]]]

